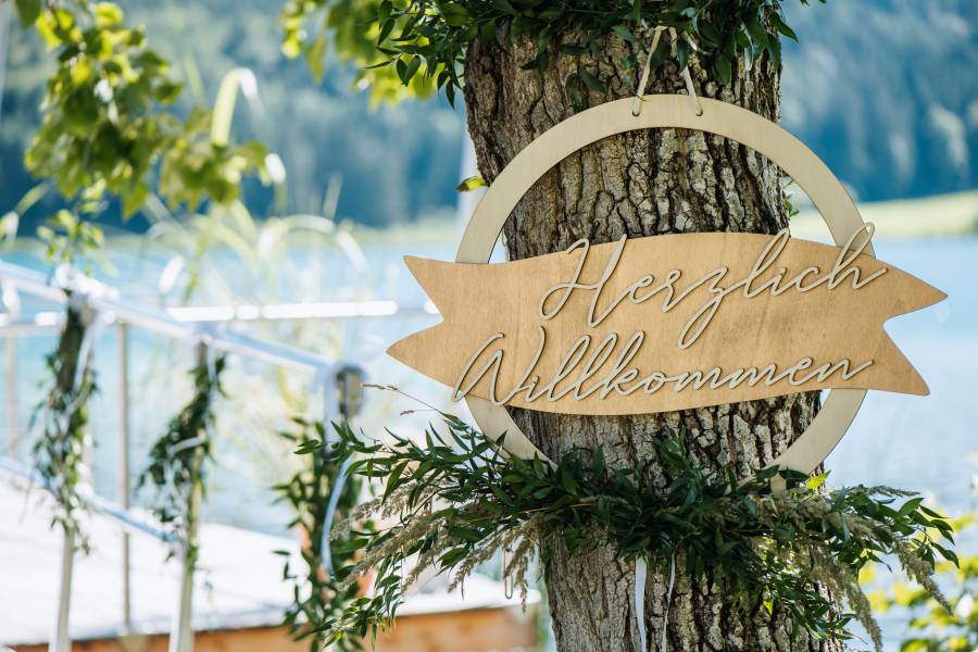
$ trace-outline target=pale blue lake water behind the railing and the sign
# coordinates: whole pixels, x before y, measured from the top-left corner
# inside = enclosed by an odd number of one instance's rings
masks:
[[[297,268],[316,269],[328,279],[327,290],[306,299],[349,298],[351,287],[360,288],[356,297],[394,298],[406,304],[421,304],[425,297],[400,263],[404,253],[450,260],[446,246],[394,246],[367,248],[365,271],[330,262],[324,264],[318,254],[297,252],[290,264]],[[978,238],[877,240],[877,255],[930,283],[949,298],[930,309],[896,317],[887,331],[920,372],[930,387],[930,396],[912,397],[887,392],[869,392],[847,437],[827,462],[830,484],[886,484],[914,489],[931,497],[952,514],[976,510],[974,486],[978,478]],[[28,262],[21,258],[17,262]],[[34,263],[35,265],[37,263]],[[126,292],[142,292],[140,276],[159,273],[160,260],[124,264],[121,278]],[[366,288],[366,289],[364,289]],[[321,352],[340,351],[366,367],[368,379],[394,384],[439,408],[464,414],[462,405],[451,405],[448,389],[418,377],[410,369],[387,359],[383,351],[396,339],[435,323],[435,317],[367,319],[336,328],[323,324],[306,325],[303,330],[278,327],[256,335],[276,337],[287,343],[301,343]],[[254,331],[255,327],[252,327]],[[328,342],[328,343],[327,343]],[[38,383],[42,378],[42,356],[53,344],[53,337],[32,337],[20,342],[18,403],[20,424],[28,422],[30,406],[40,399]],[[145,455],[165,421],[186,399],[188,384],[184,374],[174,374],[191,364],[186,348],[174,346],[145,334],[133,341],[133,467],[134,476],[145,464]],[[118,401],[116,349],[114,333],[100,339],[97,366],[101,392],[92,404],[93,432],[97,442],[92,464],[97,488],[105,496],[114,494],[116,482],[116,444]],[[287,446],[275,435],[286,425],[285,415],[301,411],[316,414],[315,399],[309,399],[309,378],[301,375],[276,375],[263,365],[234,361],[228,377],[227,399],[220,412],[220,440],[210,475],[210,493],[205,517],[269,532],[281,532],[289,514],[272,504],[268,486],[285,477],[293,459]],[[5,380],[0,381],[0,396],[5,396]],[[283,401],[286,388],[293,397]],[[430,413],[401,416],[416,404],[390,392],[372,392],[361,425],[367,432],[380,432],[384,426],[411,431],[422,427]],[[0,419],[5,424],[7,416]],[[29,446],[22,441],[22,459],[28,459]],[[975,540],[964,544],[975,552]],[[965,552],[968,552],[966,549]],[[889,635],[899,634],[891,624]],[[895,639],[894,639],[895,640]]]

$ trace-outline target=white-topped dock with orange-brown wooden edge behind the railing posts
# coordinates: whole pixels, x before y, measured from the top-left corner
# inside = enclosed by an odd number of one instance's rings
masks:
[[[43,492],[0,479],[0,649],[46,650],[55,620],[61,536],[50,529]],[[74,650],[154,652],[166,649],[177,603],[179,568],[167,548],[131,535],[129,623],[124,618],[122,534],[105,516],[87,518],[92,550],[78,555],[72,593]],[[198,652],[305,651],[278,626],[289,602],[283,557],[296,541],[220,524],[201,527],[200,572],[193,595]],[[403,605],[384,652],[528,650],[536,640],[535,607],[523,613],[502,585],[485,577],[449,594],[437,579]]]

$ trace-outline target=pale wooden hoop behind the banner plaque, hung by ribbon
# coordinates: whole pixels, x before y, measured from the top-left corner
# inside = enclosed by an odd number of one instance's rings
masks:
[[[663,80],[656,83],[661,82]],[[741,90],[744,88],[747,87],[741,87]],[[509,229],[512,228],[513,223],[507,222],[509,213],[512,211],[514,218],[518,220],[523,213],[521,204],[528,202],[539,191],[539,184],[554,172],[572,166],[570,164],[576,158],[592,149],[610,147],[616,139],[623,137],[626,142],[640,135],[650,140],[662,138],[665,142],[675,128],[693,129],[693,134],[703,131],[714,137],[722,136],[729,139],[727,142],[743,146],[732,150],[717,149],[711,147],[711,140],[706,140],[705,151],[693,152],[695,155],[689,159],[686,168],[677,165],[670,166],[678,177],[656,176],[654,190],[660,195],[654,206],[656,211],[667,209],[669,205],[677,205],[674,199],[669,201],[662,201],[662,199],[673,198],[676,190],[687,186],[690,180],[692,186],[689,190],[693,192],[694,200],[680,197],[677,210],[686,212],[699,208],[709,211],[703,215],[687,215],[686,226],[680,227],[677,223],[676,228],[679,233],[690,224],[699,225],[703,230],[717,230],[717,226],[722,225],[720,230],[726,228],[738,231],[742,225],[730,223],[723,213],[719,215],[720,220],[717,221],[712,212],[725,209],[736,214],[744,206],[753,206],[753,210],[761,211],[754,218],[760,218],[767,225],[769,215],[766,212],[765,202],[758,201],[761,198],[754,195],[763,188],[773,187],[769,176],[766,176],[767,172],[761,177],[755,176],[755,165],[760,165],[757,168],[760,171],[770,170],[765,166],[765,163],[780,165],[785,174],[788,174],[807,191],[808,198],[820,211],[837,244],[845,243],[852,234],[864,226],[858,210],[842,184],[814,152],[791,134],[767,120],[766,109],[755,111],[751,110],[751,106],[744,108],[729,101],[701,97],[698,100],[698,106],[702,106],[703,110],[699,111],[693,110],[689,98],[667,92],[645,96],[639,115],[635,115],[632,112],[632,104],[634,102],[628,99],[598,104],[563,120],[521,149],[499,173],[499,176],[492,180],[488,192],[476,206],[459,244],[455,260],[467,263],[488,261],[500,231],[505,227],[509,233]],[[757,108],[764,105],[764,100],[756,104]],[[509,122],[505,124],[506,128],[511,126]],[[681,141],[679,150],[668,151],[669,158],[675,160],[677,154],[682,154],[690,147],[697,148],[699,143],[689,140]],[[611,147],[609,151],[620,152],[616,146]],[[742,154],[743,158],[739,161],[737,158],[730,158],[735,152]],[[726,187],[725,192],[710,192],[711,185],[715,186],[720,177],[716,176],[716,161],[713,161],[714,170],[711,179],[710,170],[704,168],[705,163],[711,159],[705,156],[705,153],[729,164],[729,170],[726,170],[726,174],[722,177]],[[756,153],[764,154],[766,158],[752,159],[752,154],[756,155]],[[645,154],[640,153],[639,160],[644,156]],[[679,158],[681,159],[681,156]],[[751,164],[752,161],[754,165]],[[747,162],[745,167],[744,162]],[[590,193],[592,188],[600,186],[598,181],[606,184],[611,180],[614,185],[616,183],[615,175],[620,172],[615,170],[613,160],[609,160],[604,167],[609,173],[613,173],[610,178],[588,177],[585,179],[577,176],[579,173],[575,173],[572,175],[575,183],[568,189],[574,192],[587,190]],[[632,161],[629,163],[629,167],[622,172],[630,178],[635,170],[635,161]],[[777,168],[775,167],[775,170]],[[735,181],[734,186],[729,186],[729,179]],[[635,180],[636,184],[632,186],[639,187],[637,183],[641,179]],[[577,183],[581,181],[587,181],[586,186],[578,187]],[[779,188],[776,189],[780,192]],[[703,196],[703,190],[706,190],[707,195]],[[719,203],[711,201],[711,196]],[[634,203],[630,196],[627,201]],[[579,205],[579,203],[574,205]],[[607,208],[617,212],[627,206],[607,204]],[[781,208],[783,209],[783,201]],[[544,217],[550,218],[552,209],[547,203],[539,204],[539,209],[542,210]],[[762,211],[762,209],[765,210]],[[568,222],[573,224],[580,216],[568,215],[567,217]],[[668,217],[668,215],[662,215],[662,218]],[[629,237],[635,236],[630,230],[625,233]],[[872,243],[867,243],[864,252],[873,253]],[[793,468],[803,473],[815,469],[841,440],[855,418],[865,396],[865,389],[829,391],[825,398],[823,410],[808,424],[804,432],[795,438],[797,440],[775,460],[765,460],[763,464]],[[506,410],[478,397],[469,397],[466,402],[473,417],[485,431],[507,434],[505,447],[510,452],[524,457],[547,456],[530,441]],[[761,461],[758,460],[758,462]]]

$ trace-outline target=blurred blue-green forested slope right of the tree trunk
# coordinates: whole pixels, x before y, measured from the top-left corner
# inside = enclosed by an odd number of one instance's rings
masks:
[[[857,199],[978,187],[978,2],[785,5],[782,123]]]

